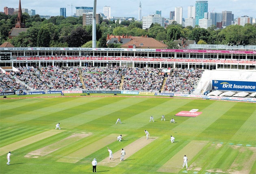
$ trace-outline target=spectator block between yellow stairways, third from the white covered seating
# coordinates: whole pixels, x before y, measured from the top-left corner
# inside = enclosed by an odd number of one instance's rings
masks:
[[[121,73],[118,67],[83,67],[82,78],[86,90],[120,89]]]

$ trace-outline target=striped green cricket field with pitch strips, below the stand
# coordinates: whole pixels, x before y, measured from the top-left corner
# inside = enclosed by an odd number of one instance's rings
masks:
[[[92,173],[93,158],[97,172],[104,174],[256,173],[256,103],[113,94],[46,96],[0,100],[1,174]],[[202,114],[175,116],[192,109]],[[117,118],[122,124],[115,124]],[[171,118],[176,123],[170,123]],[[60,130],[55,129],[57,123]],[[120,134],[121,142],[116,138]],[[107,147],[113,151],[112,161]],[[122,148],[126,156],[120,162]],[[184,155],[188,169],[182,168]]]

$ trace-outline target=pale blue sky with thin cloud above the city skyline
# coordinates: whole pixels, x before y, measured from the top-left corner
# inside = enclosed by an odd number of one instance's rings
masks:
[[[104,6],[111,7],[112,17],[139,17],[139,2],[142,16],[162,11],[162,17],[169,18],[175,7],[183,7],[183,18],[187,18],[188,6],[195,6],[196,0],[97,0],[96,13],[103,13]],[[21,0],[22,8],[35,10],[36,14],[58,16],[60,8],[66,8],[66,16],[76,13],[79,6],[93,7],[94,0]],[[0,11],[4,6],[18,8],[19,0],[0,0]],[[256,0],[208,0],[208,12],[232,11],[234,18],[249,16],[256,18]]]

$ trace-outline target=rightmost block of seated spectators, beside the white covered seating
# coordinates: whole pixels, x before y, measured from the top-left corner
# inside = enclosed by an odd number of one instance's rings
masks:
[[[172,69],[170,76],[168,76],[165,81],[164,90],[192,93],[195,89],[194,86],[197,85],[202,73],[202,69]]]

